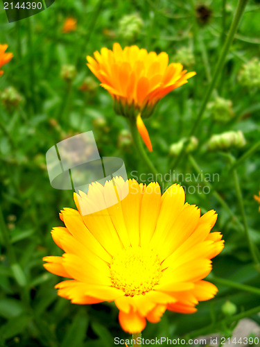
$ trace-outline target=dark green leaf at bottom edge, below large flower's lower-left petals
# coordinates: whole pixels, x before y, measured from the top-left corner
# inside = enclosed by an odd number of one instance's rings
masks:
[[[83,346],[85,337],[87,336],[87,326],[89,317],[85,310],[80,310],[76,314],[67,334],[62,341],[62,347]]]

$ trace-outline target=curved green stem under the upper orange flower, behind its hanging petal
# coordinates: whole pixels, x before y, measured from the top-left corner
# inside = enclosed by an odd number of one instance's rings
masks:
[[[157,169],[155,169],[153,162],[150,161],[150,159],[148,158],[148,155],[146,154],[146,151],[144,149],[143,146],[143,142],[141,140],[141,137],[139,135],[139,131],[137,129],[137,124],[136,124],[136,120],[134,118],[130,119],[129,121],[129,127],[130,127],[130,131],[132,134],[132,140],[135,144],[135,147],[137,149],[137,152],[141,158],[141,160],[144,160],[144,162],[146,163],[147,167],[150,169],[150,171],[152,171],[152,173],[155,175],[155,179],[157,180],[157,182],[162,185],[162,180],[159,179],[159,173],[157,171]]]

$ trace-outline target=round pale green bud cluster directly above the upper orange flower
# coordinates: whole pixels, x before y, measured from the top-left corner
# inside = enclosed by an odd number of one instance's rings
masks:
[[[137,38],[143,26],[144,22],[138,13],[125,15],[119,21],[119,36],[128,42],[132,42]]]

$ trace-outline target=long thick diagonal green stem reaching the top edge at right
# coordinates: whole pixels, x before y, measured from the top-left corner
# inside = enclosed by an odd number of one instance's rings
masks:
[[[204,115],[204,112],[206,110],[207,103],[209,102],[211,94],[212,94],[212,92],[213,92],[213,90],[216,87],[216,84],[218,82],[218,78],[220,77],[221,71],[222,71],[223,66],[225,64],[225,58],[227,56],[227,53],[229,51],[229,48],[230,48],[233,40],[234,40],[234,35],[236,34],[236,30],[239,26],[239,22],[241,21],[241,17],[243,15],[243,12],[245,10],[245,6],[247,3],[248,3],[248,0],[239,0],[239,3],[236,7],[236,13],[234,15],[234,19],[233,19],[232,24],[229,28],[229,33],[226,37],[225,43],[223,45],[223,49],[220,52],[218,62],[216,63],[216,67],[214,69],[211,83],[209,83],[209,87],[207,88],[204,99],[202,100],[200,110],[198,112],[196,120],[194,121],[193,127],[191,128],[191,131],[189,133],[189,137],[193,136],[196,133],[196,130],[198,129],[198,126],[200,124],[202,116]],[[183,155],[184,155],[184,153],[187,149],[187,146],[189,144],[189,137],[188,137],[187,141],[184,143],[184,146],[182,147],[182,151],[180,151],[180,154],[177,156],[175,162],[173,163],[173,169],[177,166],[177,164],[183,158]]]

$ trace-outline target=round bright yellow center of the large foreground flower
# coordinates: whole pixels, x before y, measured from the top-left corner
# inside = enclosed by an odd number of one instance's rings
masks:
[[[145,294],[153,289],[162,277],[159,257],[151,249],[128,247],[112,257],[111,280],[125,296]]]

